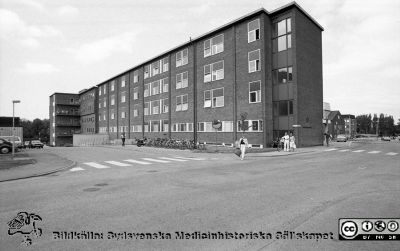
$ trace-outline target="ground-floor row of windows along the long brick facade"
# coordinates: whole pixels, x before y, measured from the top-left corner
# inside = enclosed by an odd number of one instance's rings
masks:
[[[247,132],[262,132],[262,120],[245,120],[244,127]],[[143,124],[144,132],[168,132],[168,120],[150,120]],[[237,132],[240,132],[240,121],[237,122]],[[120,126],[120,132],[127,132],[127,126]],[[222,121],[222,126],[217,129],[219,132],[233,132],[233,121]],[[106,133],[107,127],[99,127],[100,133]],[[117,132],[116,126],[110,127],[110,132]],[[132,125],[131,132],[142,132],[142,125]],[[193,123],[173,123],[171,132],[193,132]],[[212,122],[198,122],[197,132],[215,132]]]

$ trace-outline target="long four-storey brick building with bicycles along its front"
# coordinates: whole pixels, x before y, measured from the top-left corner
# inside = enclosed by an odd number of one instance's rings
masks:
[[[253,145],[292,130],[299,145],[321,145],[322,31],[291,3],[191,39],[90,89],[98,96],[95,133],[215,142],[218,119],[218,143],[233,143],[247,113]]]

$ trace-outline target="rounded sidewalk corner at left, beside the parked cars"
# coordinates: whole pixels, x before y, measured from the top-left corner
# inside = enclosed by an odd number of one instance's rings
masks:
[[[43,176],[71,168],[75,164],[74,161],[49,153],[46,149],[18,153],[14,160],[9,156],[2,156],[0,182]]]

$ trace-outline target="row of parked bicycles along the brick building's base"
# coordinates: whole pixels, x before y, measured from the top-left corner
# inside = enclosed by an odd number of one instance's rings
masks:
[[[166,139],[166,138],[156,138],[156,139],[137,139],[136,145],[150,146],[150,147],[160,147],[160,148],[172,148],[172,149],[196,149],[196,143],[194,140],[188,139]]]

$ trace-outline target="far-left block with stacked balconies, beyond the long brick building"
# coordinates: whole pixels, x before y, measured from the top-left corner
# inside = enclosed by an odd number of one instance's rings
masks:
[[[50,145],[72,146],[72,135],[80,133],[79,95],[54,93],[49,111]]]

